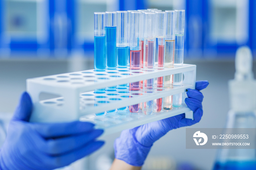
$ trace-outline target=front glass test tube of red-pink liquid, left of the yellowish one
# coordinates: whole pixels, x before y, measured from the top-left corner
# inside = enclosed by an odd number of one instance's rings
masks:
[[[165,12],[155,13],[155,36],[156,36],[156,47],[155,47],[155,69],[163,69],[163,58],[165,53]],[[155,78],[155,87],[157,90],[163,90],[163,77]],[[153,111],[162,111],[163,98],[154,100]]]

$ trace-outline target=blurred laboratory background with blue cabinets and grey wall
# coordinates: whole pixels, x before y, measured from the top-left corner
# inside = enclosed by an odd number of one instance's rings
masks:
[[[196,64],[196,79],[210,82],[202,90],[204,115],[192,127],[224,127],[236,49],[249,46],[255,59],[255,0],[0,0],[0,125],[6,126],[27,78],[93,69],[94,12],[147,8],[185,9],[184,63]],[[119,135],[103,137],[105,146],[82,169],[107,170]],[[215,156],[214,149],[186,149],[184,127],[155,142],[143,169],[210,170]]]

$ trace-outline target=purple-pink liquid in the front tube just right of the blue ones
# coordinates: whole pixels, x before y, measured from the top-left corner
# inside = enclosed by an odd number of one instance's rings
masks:
[[[140,51],[130,51],[130,69],[138,70],[140,69]],[[140,90],[140,82],[133,82],[129,85],[129,90],[138,91]],[[136,113],[139,111],[139,104],[129,106],[129,110],[132,113]]]

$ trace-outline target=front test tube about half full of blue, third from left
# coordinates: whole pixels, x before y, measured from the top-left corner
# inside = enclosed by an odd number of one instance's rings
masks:
[[[117,11],[117,39],[116,39],[117,67],[127,68],[127,11]],[[127,84],[117,85],[117,89],[126,89]],[[126,107],[118,108],[118,111]]]

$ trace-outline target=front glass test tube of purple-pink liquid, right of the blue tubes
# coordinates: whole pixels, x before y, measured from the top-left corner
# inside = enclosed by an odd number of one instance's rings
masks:
[[[131,12],[131,39],[130,39],[130,69],[140,69],[140,17],[142,13],[139,11]],[[140,82],[132,82],[129,85],[129,90],[139,91]],[[137,93],[139,94],[139,93]],[[129,106],[130,112],[136,113],[139,111],[139,104]]]

